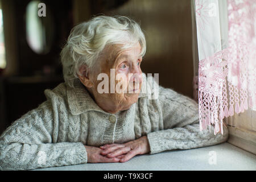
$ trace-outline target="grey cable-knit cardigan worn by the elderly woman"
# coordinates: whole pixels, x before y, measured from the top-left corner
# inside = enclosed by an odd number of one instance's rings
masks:
[[[151,78],[151,79],[149,79]],[[147,135],[150,154],[225,142],[224,134],[199,129],[198,104],[172,89],[152,89],[143,73],[142,90],[130,109],[110,114],[90,97],[79,80],[44,90],[47,100],[28,111],[0,137],[0,169],[33,169],[87,163],[84,145],[125,143]],[[156,84],[156,82],[155,82]],[[156,99],[149,98],[156,96]]]

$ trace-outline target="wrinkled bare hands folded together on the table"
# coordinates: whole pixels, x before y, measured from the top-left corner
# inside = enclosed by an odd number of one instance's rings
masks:
[[[105,144],[100,147],[85,146],[85,148],[88,163],[127,162],[135,155],[150,152],[147,136],[122,144]]]

